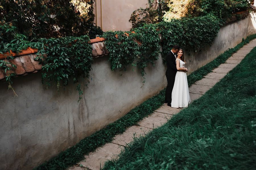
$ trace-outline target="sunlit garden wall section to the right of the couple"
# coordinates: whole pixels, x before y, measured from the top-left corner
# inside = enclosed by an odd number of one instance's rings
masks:
[[[188,74],[204,66],[214,58],[225,52],[228,48],[233,48],[239,44],[242,39],[248,35],[256,33],[256,13],[251,12],[249,16],[238,22],[228,24],[220,28],[218,37],[210,47],[205,48],[202,52],[186,55],[185,60],[188,68]],[[186,54],[186,52],[185,52]]]

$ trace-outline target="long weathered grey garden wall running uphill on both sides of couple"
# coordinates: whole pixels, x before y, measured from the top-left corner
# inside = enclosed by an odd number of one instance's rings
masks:
[[[221,28],[211,47],[187,58],[189,72],[212,61],[228,48],[255,33],[255,13]],[[40,73],[13,80],[18,97],[0,82],[0,169],[32,169],[75,145],[84,137],[125,115],[166,86],[162,56],[146,68],[146,82],[139,70],[111,71],[108,56],[94,59],[90,84],[78,103],[76,85],[46,89]],[[123,74],[120,76],[120,74]]]

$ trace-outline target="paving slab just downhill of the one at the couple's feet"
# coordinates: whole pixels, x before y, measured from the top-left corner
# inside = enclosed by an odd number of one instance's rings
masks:
[[[165,124],[170,119],[170,117],[170,114],[154,112],[153,114],[139,122],[139,125],[154,129]]]

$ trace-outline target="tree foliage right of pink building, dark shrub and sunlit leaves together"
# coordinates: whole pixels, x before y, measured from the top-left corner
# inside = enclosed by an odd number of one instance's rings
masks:
[[[247,10],[248,7],[247,0],[148,0],[148,7],[135,10],[129,22],[135,28],[143,24],[170,22],[174,18],[213,14],[221,23],[225,23],[234,12]]]

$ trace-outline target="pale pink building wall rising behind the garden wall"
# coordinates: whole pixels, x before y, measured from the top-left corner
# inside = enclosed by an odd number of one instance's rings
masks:
[[[103,31],[129,31],[131,14],[136,9],[145,8],[147,3],[148,0],[95,0],[94,23]]]

